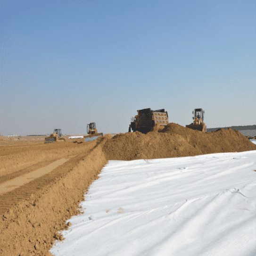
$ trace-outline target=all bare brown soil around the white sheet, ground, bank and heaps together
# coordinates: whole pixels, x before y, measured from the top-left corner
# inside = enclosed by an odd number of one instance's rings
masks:
[[[80,213],[79,202],[107,160],[256,150],[238,131],[203,133],[173,123],[148,134],[107,134],[89,142],[15,139],[0,139],[0,255],[10,256],[50,256],[54,241],[62,239],[58,231]]]

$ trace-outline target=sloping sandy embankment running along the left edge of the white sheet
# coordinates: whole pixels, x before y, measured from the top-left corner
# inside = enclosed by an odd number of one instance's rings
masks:
[[[79,214],[86,189],[107,163],[101,149],[104,140],[96,141],[87,154],[72,157],[50,173],[0,195],[1,206],[17,198],[2,213],[0,255],[50,255],[54,240],[61,239],[58,231],[68,227],[68,218]]]

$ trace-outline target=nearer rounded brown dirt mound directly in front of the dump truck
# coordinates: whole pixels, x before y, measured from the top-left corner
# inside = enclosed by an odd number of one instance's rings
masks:
[[[117,134],[103,152],[108,160],[124,161],[200,155],[181,135],[159,132]]]

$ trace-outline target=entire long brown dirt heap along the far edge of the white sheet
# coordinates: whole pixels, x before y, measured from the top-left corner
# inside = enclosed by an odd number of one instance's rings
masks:
[[[200,132],[174,123],[159,128],[155,125],[147,134],[116,134],[105,143],[103,152],[108,160],[129,161],[256,150],[256,145],[231,128]]]

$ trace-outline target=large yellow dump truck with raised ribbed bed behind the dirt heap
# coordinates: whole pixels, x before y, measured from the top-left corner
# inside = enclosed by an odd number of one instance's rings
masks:
[[[155,124],[167,125],[169,124],[168,113],[164,108],[159,110],[151,110],[151,108],[144,108],[137,110],[138,115],[131,118],[129,131],[138,131],[141,133],[150,132]]]

